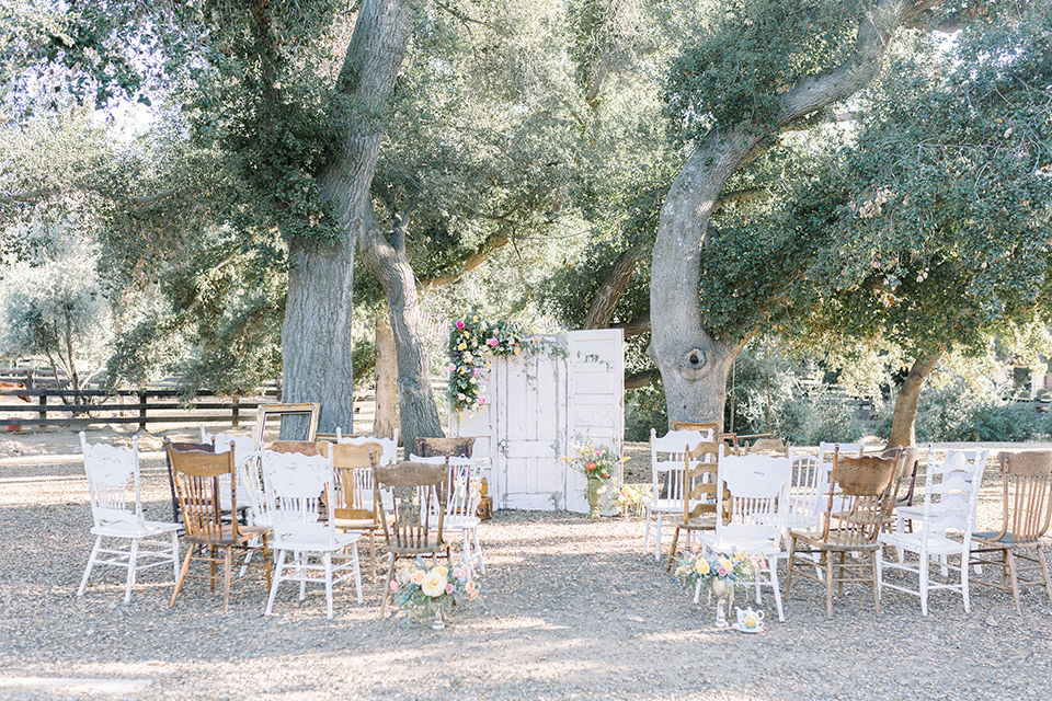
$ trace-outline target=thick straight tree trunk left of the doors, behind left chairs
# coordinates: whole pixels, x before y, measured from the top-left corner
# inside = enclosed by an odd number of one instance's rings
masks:
[[[405,55],[410,0],[363,0],[336,91],[355,99],[358,119],[319,174],[341,235],[333,244],[289,241],[288,299],[282,326],[282,399],[321,402],[318,429],[353,426],[351,363],[354,244],[361,237],[382,138],[380,115]],[[284,428],[284,426],[283,426]]]

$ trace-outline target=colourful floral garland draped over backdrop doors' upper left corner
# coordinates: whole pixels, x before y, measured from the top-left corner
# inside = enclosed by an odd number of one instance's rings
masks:
[[[458,412],[485,405],[483,377],[492,364],[483,353],[511,356],[536,353],[544,344],[536,335],[527,336],[507,321],[487,323],[478,314],[458,320],[449,329],[449,403]]]

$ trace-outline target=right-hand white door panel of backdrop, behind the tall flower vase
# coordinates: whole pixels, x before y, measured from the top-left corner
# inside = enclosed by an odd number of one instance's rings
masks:
[[[591,438],[620,453],[625,439],[625,349],[620,329],[571,331],[567,334],[567,437]],[[586,512],[586,480],[570,471],[567,508]],[[617,484],[621,484],[620,470]],[[608,493],[604,504],[614,496]]]

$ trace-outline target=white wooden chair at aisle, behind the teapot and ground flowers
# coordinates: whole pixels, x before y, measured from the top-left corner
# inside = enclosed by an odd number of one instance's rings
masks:
[[[704,551],[728,555],[743,552],[766,561],[767,568],[756,572],[756,604],[761,602],[761,587],[769,586],[775,593],[779,621],[786,617],[778,585],[778,559],[789,556],[781,547],[782,510],[779,506],[788,502],[791,478],[792,466],[788,458],[727,456],[721,446],[716,478],[717,514],[729,512],[730,520],[724,524],[718,518],[714,531],[698,535]],[[724,505],[728,498],[731,499],[729,508]],[[695,587],[695,601],[700,594],[699,582]]]

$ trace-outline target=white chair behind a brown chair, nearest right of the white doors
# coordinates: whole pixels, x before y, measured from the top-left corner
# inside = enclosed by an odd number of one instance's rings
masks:
[[[661,531],[665,516],[683,513],[683,475],[685,455],[698,444],[712,440],[712,432],[704,435],[697,430],[670,430],[658,437],[650,429],[651,501],[645,505],[643,526],[643,552],[650,550],[650,527],[654,525],[654,560],[661,561]]]

